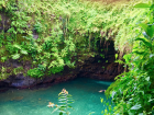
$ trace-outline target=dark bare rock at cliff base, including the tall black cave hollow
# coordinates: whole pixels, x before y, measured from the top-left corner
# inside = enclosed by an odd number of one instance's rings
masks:
[[[113,46],[112,41],[102,42],[101,45],[98,46],[99,50],[97,56],[89,58],[85,57],[85,60],[77,61],[75,69],[65,67],[63,72],[43,77],[41,79],[23,76],[23,72],[18,74],[12,73],[8,79],[0,81],[0,91],[4,91],[9,87],[18,89],[28,89],[40,85],[46,87],[51,83],[65,82],[77,77],[113,81],[116,76],[122,73],[124,70],[122,65],[114,62],[114,55],[117,51]],[[29,69],[31,62],[10,60],[6,61],[3,66],[13,68],[23,67],[23,69]],[[11,70],[8,70],[8,72],[11,72]]]

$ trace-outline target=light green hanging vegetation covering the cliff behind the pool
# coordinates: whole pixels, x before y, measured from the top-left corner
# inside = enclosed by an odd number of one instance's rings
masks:
[[[82,62],[95,56],[107,39],[114,39],[121,54],[130,51],[135,36],[131,32],[136,28],[127,25],[146,18],[145,11],[132,9],[133,3],[101,5],[76,0],[1,0],[0,12],[10,19],[11,26],[6,30],[4,23],[0,32],[0,61],[30,61],[32,67],[24,72],[40,78],[61,72],[65,66],[75,68],[77,57]],[[38,65],[45,74],[38,72]]]

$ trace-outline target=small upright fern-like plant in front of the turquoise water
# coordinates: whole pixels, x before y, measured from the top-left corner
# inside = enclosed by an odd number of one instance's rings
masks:
[[[66,91],[65,89],[62,90],[62,92],[58,94],[58,103],[63,103],[62,105],[57,105],[57,104],[54,104],[52,102],[48,103],[48,107],[54,107],[56,106],[56,108],[52,112],[54,113],[55,111],[59,110],[59,115],[63,115],[64,113],[66,115],[69,115],[70,112],[68,111],[68,108],[73,108],[69,104],[74,103],[74,100],[70,94],[68,94],[68,91]]]

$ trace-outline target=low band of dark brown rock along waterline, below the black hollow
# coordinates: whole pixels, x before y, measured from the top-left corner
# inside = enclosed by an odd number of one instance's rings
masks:
[[[97,79],[101,81],[113,81],[116,76],[122,73],[123,71],[124,68],[122,65],[105,61],[95,62],[94,59],[92,61],[87,60],[85,64],[73,70],[69,70],[69,68],[65,67],[62,74],[56,73],[42,79],[24,77],[23,73],[19,73],[15,77],[11,76],[7,80],[0,81],[0,88],[32,89],[38,85],[57,84],[79,77]]]

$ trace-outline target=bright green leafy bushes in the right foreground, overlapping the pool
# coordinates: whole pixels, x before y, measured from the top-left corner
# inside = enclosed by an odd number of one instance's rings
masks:
[[[135,8],[152,8],[153,4],[139,3]],[[154,9],[150,9],[152,12]],[[132,53],[124,55],[130,71],[116,78],[106,94],[112,97],[116,105],[112,115],[152,115],[154,113],[154,20],[142,22],[139,26],[144,31],[134,41]],[[117,87],[116,87],[117,85]],[[111,115],[109,112],[106,115]]]

